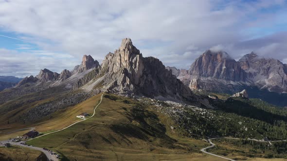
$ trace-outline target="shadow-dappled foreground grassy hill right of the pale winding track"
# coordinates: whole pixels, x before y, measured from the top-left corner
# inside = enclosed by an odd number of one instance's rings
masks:
[[[28,144],[54,149],[71,161],[218,160],[199,153],[208,143],[171,129],[177,127],[172,119],[135,99],[106,94],[96,112],[91,119]]]

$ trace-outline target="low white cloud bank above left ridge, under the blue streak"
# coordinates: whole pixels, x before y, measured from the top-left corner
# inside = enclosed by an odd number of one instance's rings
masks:
[[[0,75],[23,78],[36,75],[40,69],[49,66],[51,71],[61,72],[63,69],[72,70],[80,60],[69,54],[53,53],[50,51],[18,52],[0,48]]]

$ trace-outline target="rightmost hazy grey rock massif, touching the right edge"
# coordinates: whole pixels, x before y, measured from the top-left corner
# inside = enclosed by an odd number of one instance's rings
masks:
[[[244,55],[239,62],[247,73],[247,78],[258,88],[278,93],[287,92],[286,64],[276,59],[260,57],[254,52]]]

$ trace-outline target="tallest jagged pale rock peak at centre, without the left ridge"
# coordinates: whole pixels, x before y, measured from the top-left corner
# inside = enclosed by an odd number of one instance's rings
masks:
[[[114,53],[108,53],[101,66],[103,87],[109,92],[199,102],[199,98],[166,70],[160,60],[143,58],[129,38],[123,39]]]

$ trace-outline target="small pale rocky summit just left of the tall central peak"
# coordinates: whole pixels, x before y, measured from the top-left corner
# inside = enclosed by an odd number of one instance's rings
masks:
[[[98,67],[100,64],[97,60],[94,60],[90,55],[84,55],[83,59],[82,59],[82,64],[81,65],[77,65],[74,68],[74,73],[81,73],[85,70],[89,70],[91,68],[96,68]]]

